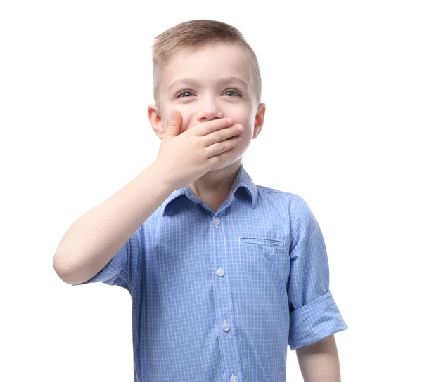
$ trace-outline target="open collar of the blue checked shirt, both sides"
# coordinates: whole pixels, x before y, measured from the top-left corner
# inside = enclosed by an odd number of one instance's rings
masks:
[[[250,178],[249,174],[246,172],[243,163],[241,163],[236,178],[234,179],[234,182],[231,185],[229,195],[227,195],[226,199],[228,200],[229,204],[231,204],[234,194],[239,187],[244,187],[244,189],[248,191],[246,194],[248,195],[248,199],[250,199],[250,206],[252,207],[252,209],[255,208],[255,206],[257,205],[258,196],[257,186],[253,182],[252,178]],[[162,203],[162,216],[164,216],[167,206],[169,206],[169,204],[172,204],[172,202],[178,197],[181,197],[181,195],[185,195],[185,197],[187,197],[189,200],[191,200],[191,202],[195,204],[199,204],[201,202],[201,200],[196,197],[196,195],[193,193],[191,187],[189,187],[189,185],[185,185],[184,187],[174,190],[172,194],[167,197],[167,199],[165,199],[165,201]]]

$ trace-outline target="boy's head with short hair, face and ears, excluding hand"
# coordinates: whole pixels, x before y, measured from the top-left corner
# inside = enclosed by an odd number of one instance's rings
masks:
[[[230,77],[241,81],[222,82]],[[184,78],[195,82],[180,81]],[[243,34],[224,22],[191,20],[155,37],[153,97],[155,105],[148,106],[148,118],[160,139],[172,108],[182,116],[180,133],[223,117],[242,124],[243,140],[236,149],[241,154],[264,123],[265,104],[260,103],[261,76],[256,55]]]

